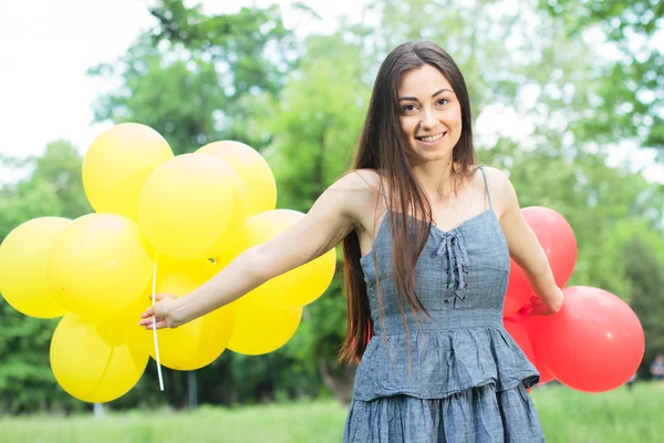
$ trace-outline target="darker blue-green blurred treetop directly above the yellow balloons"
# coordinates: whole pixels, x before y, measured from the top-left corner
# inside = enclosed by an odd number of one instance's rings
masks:
[[[198,7],[164,0],[152,9],[158,25],[115,63],[90,71],[123,85],[102,95],[97,121],[144,123],[163,134],[176,154],[217,140],[261,148],[264,131],[249,131],[255,96],[277,94],[283,84],[293,41],[279,9],[241,9],[207,17]]]

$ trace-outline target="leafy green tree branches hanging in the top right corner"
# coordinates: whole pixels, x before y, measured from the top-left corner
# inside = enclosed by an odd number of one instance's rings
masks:
[[[644,147],[664,148],[664,53],[655,44],[664,31],[664,4],[647,0],[540,0],[539,4],[564,23],[569,35],[600,31],[598,44],[618,53],[602,70],[596,103],[602,131],[634,137]]]

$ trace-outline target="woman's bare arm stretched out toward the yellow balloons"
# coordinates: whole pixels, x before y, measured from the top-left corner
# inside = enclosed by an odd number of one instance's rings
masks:
[[[269,241],[245,250],[215,277],[184,297],[163,298],[142,316],[139,324],[175,328],[221,308],[267,280],[311,261],[332,249],[355,227],[357,199],[350,175],[330,186],[295,225]]]

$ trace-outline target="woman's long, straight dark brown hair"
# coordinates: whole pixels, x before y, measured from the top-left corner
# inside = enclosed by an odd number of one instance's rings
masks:
[[[406,147],[402,141],[398,116],[398,85],[404,73],[430,64],[438,69],[452,85],[461,107],[461,134],[453,151],[452,173],[468,176],[475,165],[470,101],[466,82],[452,56],[435,43],[407,42],[395,48],[383,61],[374,84],[369,111],[360,135],[352,169],[374,169],[390,189],[386,216],[392,222],[392,259],[398,292],[398,306],[404,316],[403,301],[416,313],[427,313],[414,290],[415,264],[429,235],[432,208],[411,169]],[[409,226],[408,215],[425,220],[419,227]],[[414,234],[414,241],[409,236]],[[340,351],[342,361],[353,362],[362,358],[367,339],[373,333],[373,322],[360,266],[361,250],[357,234],[352,231],[343,239],[344,282],[347,298],[346,339]],[[375,259],[375,250],[374,250]],[[376,272],[377,274],[377,272]],[[376,282],[378,276],[376,275]],[[381,293],[378,290],[378,307]],[[382,317],[381,317],[382,319]],[[404,317],[405,327],[405,317]]]

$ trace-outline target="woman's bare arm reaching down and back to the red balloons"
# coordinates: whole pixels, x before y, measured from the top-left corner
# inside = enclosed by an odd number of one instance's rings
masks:
[[[500,225],[510,256],[523,269],[530,286],[543,302],[543,306],[538,301],[533,303],[533,313],[556,313],[562,307],[563,296],[556,285],[547,255],[521,214],[517,193],[509,178],[498,169],[492,169],[491,175],[499,194]]]

